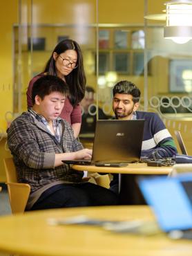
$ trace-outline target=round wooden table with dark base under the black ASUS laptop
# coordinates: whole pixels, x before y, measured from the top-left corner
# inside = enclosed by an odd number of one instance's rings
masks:
[[[121,174],[119,185],[119,201],[122,205],[143,205],[144,197],[137,185],[137,178],[141,175],[167,175],[172,167],[151,167],[146,163],[130,163],[127,167],[97,167],[95,165],[72,165],[74,170]]]

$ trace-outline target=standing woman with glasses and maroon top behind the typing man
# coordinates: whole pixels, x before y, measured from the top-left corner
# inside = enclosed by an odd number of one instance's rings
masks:
[[[28,108],[32,107],[32,85],[42,75],[56,75],[68,84],[70,93],[65,100],[64,109],[61,111],[60,116],[70,123],[75,138],[77,138],[81,128],[81,107],[79,102],[84,98],[86,85],[83,57],[79,44],[71,39],[63,40],[57,44],[52,51],[44,72],[30,80],[27,91]]]

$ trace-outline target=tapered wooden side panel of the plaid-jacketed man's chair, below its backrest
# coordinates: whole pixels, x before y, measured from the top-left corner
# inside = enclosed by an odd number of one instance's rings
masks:
[[[24,212],[30,194],[30,185],[26,183],[6,183],[12,213]]]

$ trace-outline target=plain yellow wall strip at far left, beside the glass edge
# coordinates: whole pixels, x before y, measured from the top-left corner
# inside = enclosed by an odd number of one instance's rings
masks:
[[[0,129],[5,132],[5,113],[12,111],[12,24],[17,22],[17,1],[1,1],[0,14]]]

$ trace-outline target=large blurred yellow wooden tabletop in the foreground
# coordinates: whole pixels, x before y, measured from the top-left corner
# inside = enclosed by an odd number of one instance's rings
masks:
[[[88,217],[153,221],[148,206],[66,208],[0,218],[0,252],[41,256],[189,256],[191,241],[171,240],[162,232],[150,237],[117,234],[96,226],[50,226],[49,218]]]

